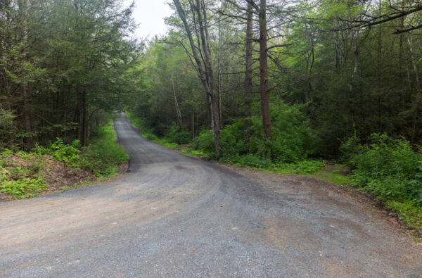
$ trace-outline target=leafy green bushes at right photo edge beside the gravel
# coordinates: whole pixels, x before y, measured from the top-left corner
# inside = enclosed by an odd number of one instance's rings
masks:
[[[417,212],[422,210],[422,153],[414,151],[409,141],[387,134],[374,133],[370,144],[353,148],[350,141],[356,139],[347,141],[343,149],[355,168],[352,184],[374,194],[421,232],[422,214]]]

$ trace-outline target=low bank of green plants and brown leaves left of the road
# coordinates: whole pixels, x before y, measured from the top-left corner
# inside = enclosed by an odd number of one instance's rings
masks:
[[[99,181],[114,177],[118,174],[118,165],[128,160],[127,153],[117,144],[115,138],[113,121],[109,120],[86,148],[80,147],[77,140],[66,144],[63,139],[58,138],[50,146],[37,146],[30,153],[3,150],[0,153],[0,193],[15,200],[39,196],[45,191],[51,191],[51,188],[68,190],[90,184],[90,180],[63,187],[60,184],[49,184],[51,181],[46,179],[46,167],[51,167],[54,161],[60,171],[72,169],[74,174],[88,173],[83,175],[85,179],[91,179],[92,175]]]

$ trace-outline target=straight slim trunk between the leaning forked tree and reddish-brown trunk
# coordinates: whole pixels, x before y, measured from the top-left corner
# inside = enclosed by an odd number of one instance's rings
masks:
[[[247,20],[246,20],[246,61],[245,61],[245,94],[244,94],[244,111],[243,116],[245,120],[243,121],[243,130],[245,132],[245,140],[248,141],[249,134],[248,129],[250,127],[250,106],[252,103],[252,42],[253,42],[253,33],[252,33],[252,4],[248,1],[248,11],[247,11]]]

